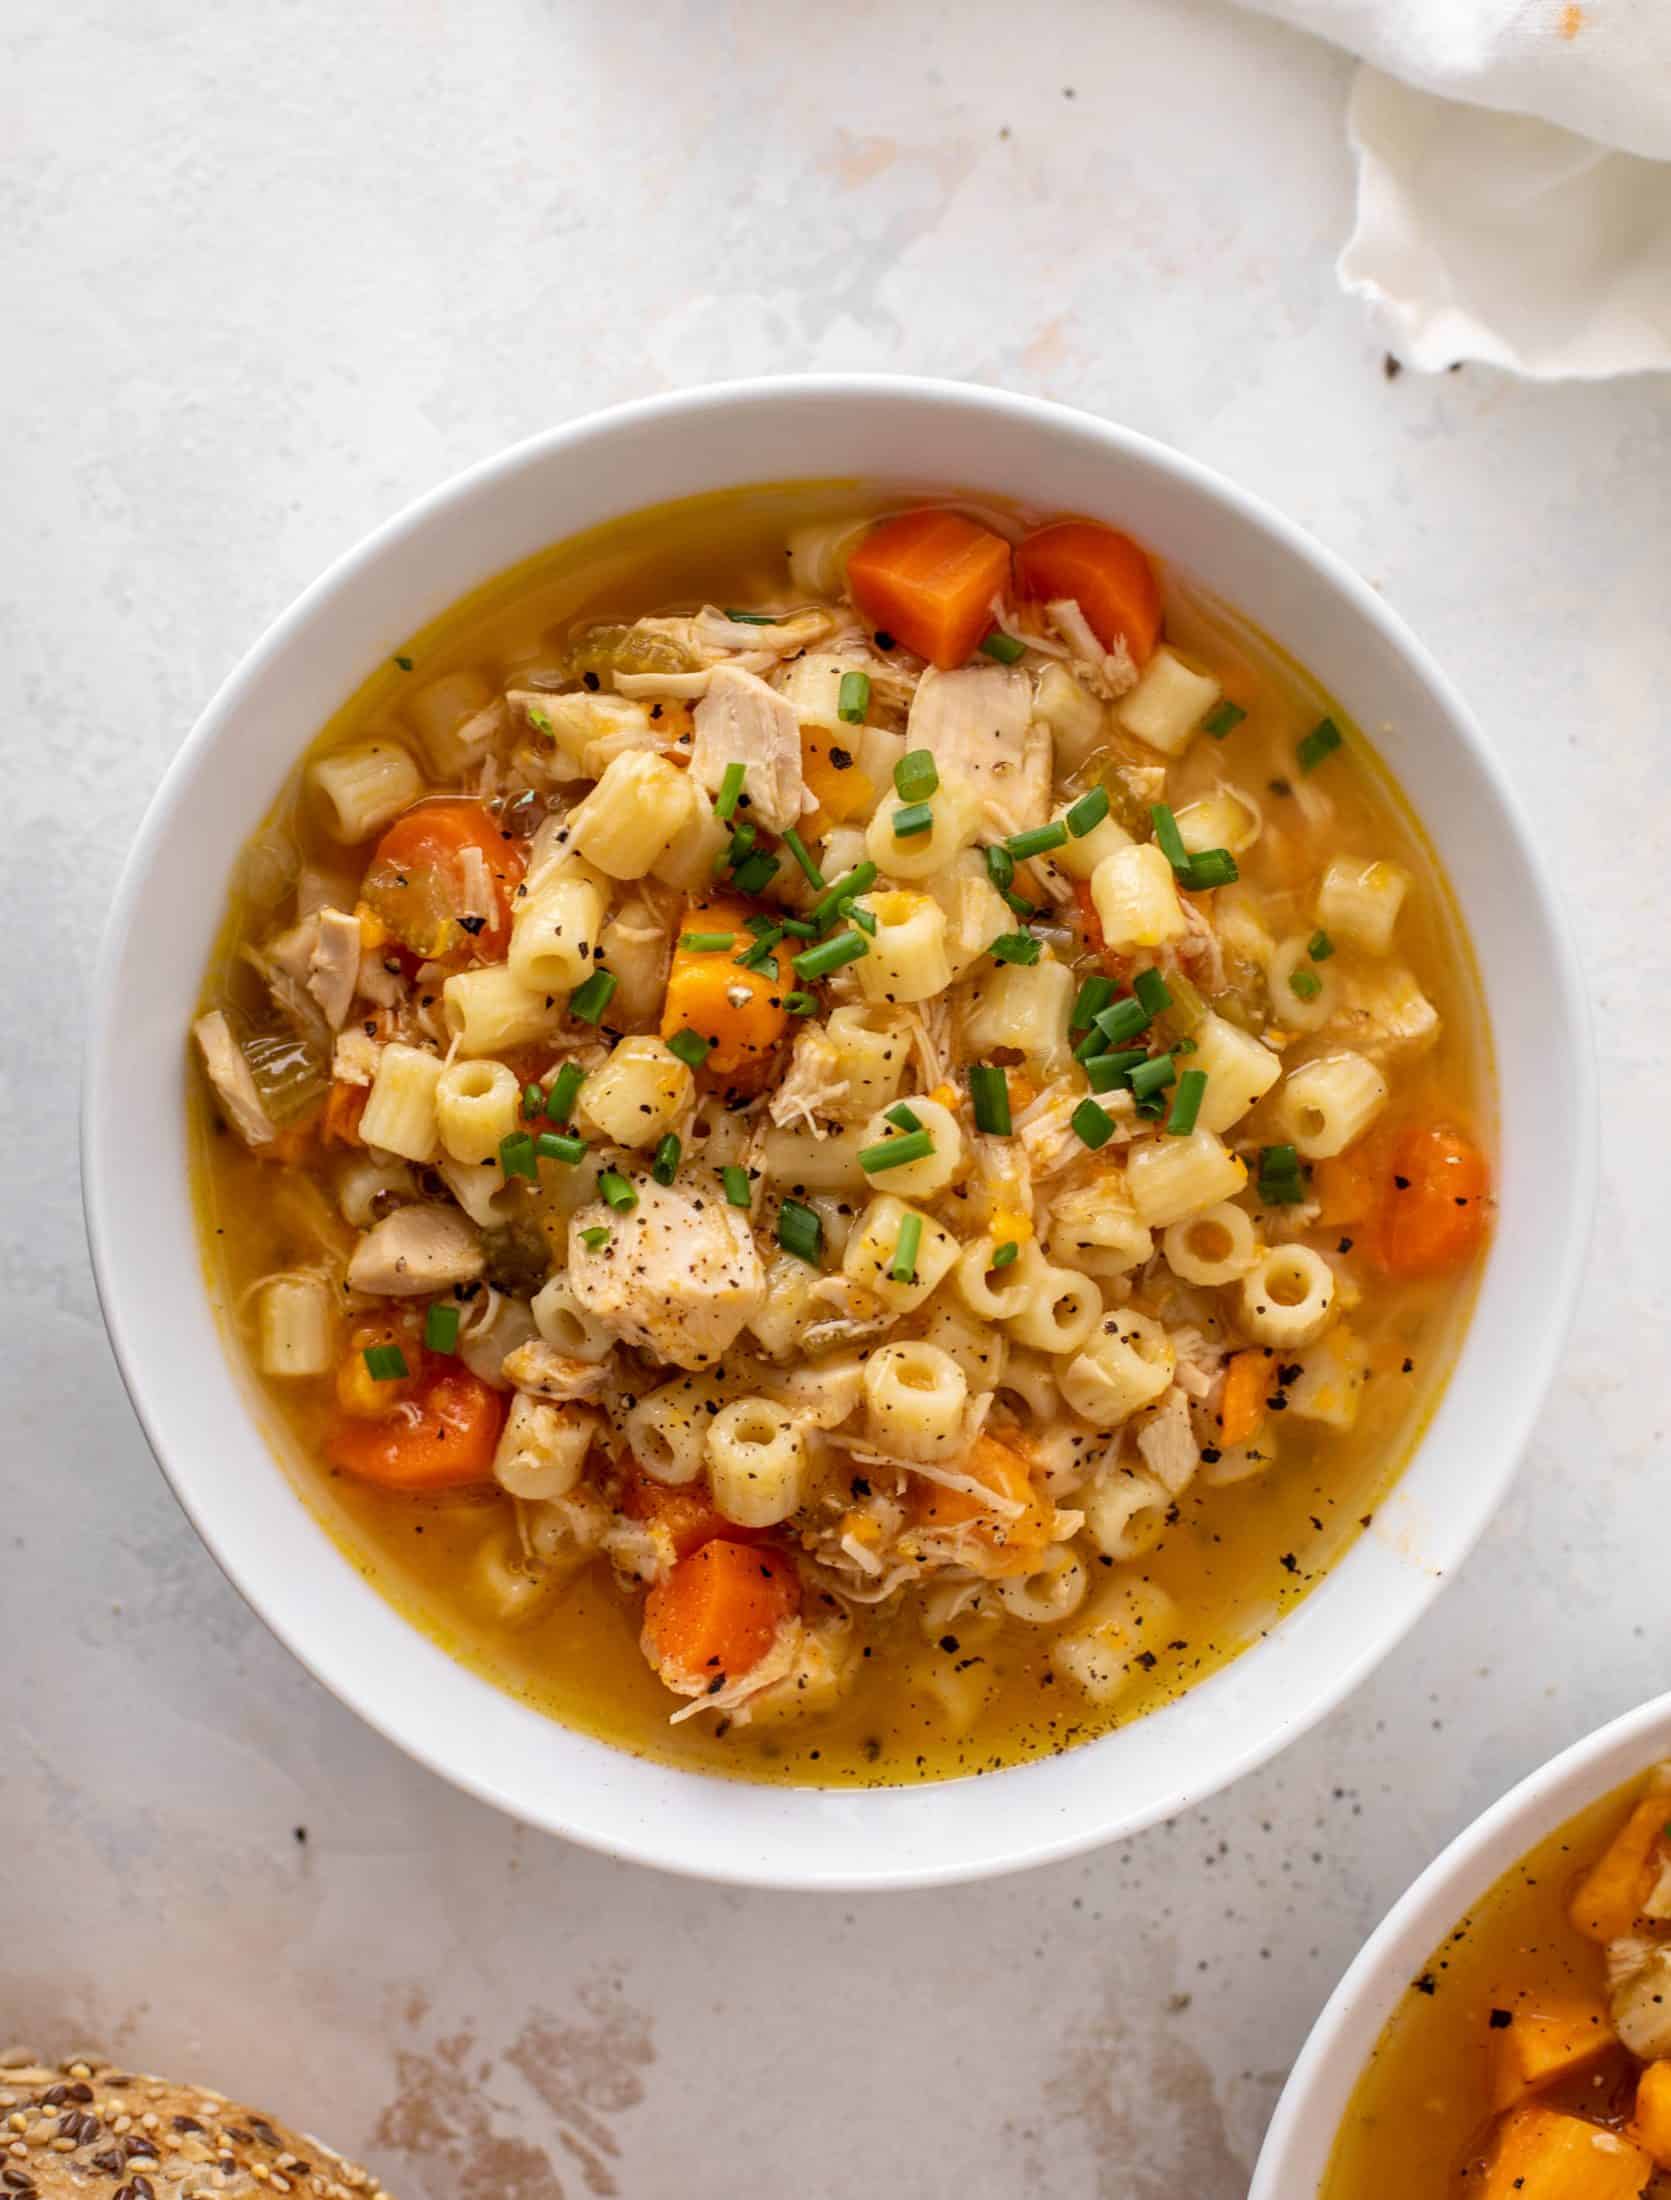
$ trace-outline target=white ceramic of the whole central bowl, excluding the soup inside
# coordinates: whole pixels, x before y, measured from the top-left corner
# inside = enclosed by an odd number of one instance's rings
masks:
[[[1117,519],[1282,640],[1365,726],[1456,882],[1502,1080],[1502,1217],[1471,1333],[1396,1498],[1262,1643],[1106,1740],[923,1789],[748,1786],[552,1725],[365,1586],[275,1465],[226,1362],[187,1197],[185,1032],[233,851],[303,744],[400,640],[594,521],[743,482],[853,475]],[[1352,572],[1141,436],[952,383],[690,389],[475,466],[334,565],[182,746],[117,893],[92,988],[88,1232],[145,1432],[209,1549],[343,1703],[475,1795],[576,1841],[710,1879],[901,1888],[1064,1857],[1260,1764],[1352,1690],[1504,1494],[1565,1331],[1594,1179],[1587,1010],[1519,803],[1462,702]],[[1513,1382],[1504,1371],[1513,1366]]]

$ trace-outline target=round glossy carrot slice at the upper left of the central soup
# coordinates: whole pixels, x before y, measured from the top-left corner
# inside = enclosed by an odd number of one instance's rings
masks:
[[[521,840],[486,803],[446,796],[416,803],[378,840],[361,882],[389,935],[431,961],[499,961],[525,869]],[[482,911],[482,880],[493,911]]]

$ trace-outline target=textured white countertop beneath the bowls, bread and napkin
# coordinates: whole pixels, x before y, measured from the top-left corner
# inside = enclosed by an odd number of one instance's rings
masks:
[[[1392,1896],[1671,1679],[1667,385],[1387,378],[1348,64],[1207,0],[13,0],[0,64],[0,2035],[429,2200],[1238,2200]],[[1165,1830],[868,1903],[521,1833],[339,1709],[145,1452],[75,1181],[108,887],[257,629],[457,466],[781,367],[1113,414],[1381,583],[1565,878],[1609,1131],[1526,1472],[1379,1679]]]

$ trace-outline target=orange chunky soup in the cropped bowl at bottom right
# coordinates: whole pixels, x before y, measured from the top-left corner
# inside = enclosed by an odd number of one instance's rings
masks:
[[[1592,1804],[1434,1951],[1324,2200],[1671,2191],[1671,1764]]]

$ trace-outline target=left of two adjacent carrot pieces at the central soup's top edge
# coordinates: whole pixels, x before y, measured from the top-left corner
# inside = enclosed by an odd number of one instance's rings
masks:
[[[1009,592],[1009,543],[959,513],[901,513],[871,528],[846,561],[853,603],[873,627],[952,671]]]

